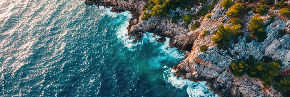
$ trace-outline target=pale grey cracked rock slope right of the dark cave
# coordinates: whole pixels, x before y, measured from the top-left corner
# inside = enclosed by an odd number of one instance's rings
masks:
[[[243,27],[244,29],[242,29],[246,34],[250,33],[247,32],[247,23],[254,15],[248,15],[247,18],[242,20],[247,21]],[[223,17],[226,16],[221,15],[216,21],[224,19]],[[266,21],[267,19],[265,19]],[[267,55],[274,60],[282,60],[284,66],[282,66],[279,74],[280,76],[289,76],[290,34],[276,39],[279,29],[290,29],[289,19],[275,18],[275,22],[266,28],[267,39],[264,42],[259,43],[256,40],[252,40],[250,43],[246,43],[246,35],[238,37],[239,42],[237,44],[231,42],[232,45],[229,49],[231,54],[238,52],[238,55],[233,55],[232,57],[226,55],[226,50],[217,49],[210,39],[213,36],[212,31],[216,29],[214,27],[217,27],[221,22],[217,24],[210,24],[209,22],[210,20],[202,20],[201,24],[204,25],[201,25],[199,29],[207,29],[210,33],[207,33],[206,37],[198,37],[195,40],[192,47],[193,50],[188,54],[188,57],[175,66],[176,75],[192,81],[208,81],[210,89],[218,93],[219,96],[281,97],[282,94],[280,92],[274,90],[273,87],[264,86],[263,81],[260,79],[250,78],[246,74],[243,77],[233,76],[228,67],[231,61],[246,59],[248,55],[253,55],[257,60]],[[224,25],[226,25],[226,22]],[[209,46],[207,53],[202,53],[199,50],[202,44]],[[282,48],[279,48],[280,45],[282,45]]]

